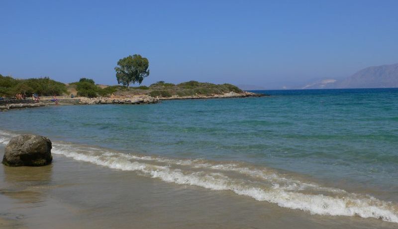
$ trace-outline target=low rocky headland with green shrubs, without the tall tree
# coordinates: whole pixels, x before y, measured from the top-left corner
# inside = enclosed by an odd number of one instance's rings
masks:
[[[13,82],[10,77],[3,77]],[[25,84],[24,80],[18,84]],[[181,84],[170,84],[163,81],[150,85],[149,87],[124,87],[124,86],[106,86],[95,85],[94,81],[76,82],[71,84],[63,84],[50,79],[28,79],[26,81],[38,82],[40,86],[47,86],[52,83],[57,85],[58,91],[51,92],[42,91],[38,97],[39,102],[35,102],[31,95],[37,91],[34,88],[27,89],[28,92],[19,92],[20,85],[12,85],[8,87],[8,91],[0,95],[0,111],[11,109],[36,108],[52,105],[93,105],[93,104],[155,104],[162,100],[195,100],[195,99],[223,99],[223,98],[246,98],[266,96],[259,93],[247,92],[239,89],[231,84],[210,84],[200,83],[197,81],[189,81]],[[43,82],[41,82],[43,81]],[[14,81],[17,82],[17,81]],[[28,82],[30,83],[30,82]],[[17,89],[14,89],[17,88]],[[25,87],[26,88],[26,87]],[[19,90],[19,91],[18,91]],[[5,97],[17,93],[24,95],[23,99],[14,97]],[[44,94],[44,96],[43,96]],[[61,95],[60,95],[61,94]],[[57,103],[55,103],[57,100]]]

